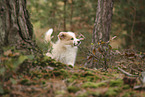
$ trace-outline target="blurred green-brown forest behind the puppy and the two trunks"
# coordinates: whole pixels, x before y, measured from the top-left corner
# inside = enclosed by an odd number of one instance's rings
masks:
[[[44,34],[54,29],[54,40],[60,31],[81,33],[85,40],[79,49],[78,61],[86,59],[91,46],[92,32],[97,11],[96,0],[28,0],[27,8],[39,47],[47,51]],[[145,51],[145,1],[114,0],[110,37],[114,49]]]

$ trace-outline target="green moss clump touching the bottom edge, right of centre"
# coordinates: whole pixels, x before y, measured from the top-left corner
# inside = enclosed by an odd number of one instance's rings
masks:
[[[119,92],[121,92],[120,88],[109,88],[108,91],[105,93],[105,96],[107,97],[117,96]]]

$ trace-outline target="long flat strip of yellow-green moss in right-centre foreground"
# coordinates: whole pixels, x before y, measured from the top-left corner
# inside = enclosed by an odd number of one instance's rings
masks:
[[[94,83],[94,82],[86,82],[82,85],[83,88],[98,88],[101,86],[106,86],[106,83],[100,82],[100,83]]]

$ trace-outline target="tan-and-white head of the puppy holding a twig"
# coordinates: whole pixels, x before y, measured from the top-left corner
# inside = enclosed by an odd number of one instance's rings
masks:
[[[65,45],[79,46],[81,44],[80,39],[77,39],[73,32],[60,32],[58,38]]]

